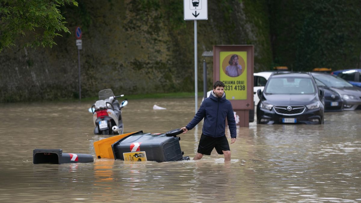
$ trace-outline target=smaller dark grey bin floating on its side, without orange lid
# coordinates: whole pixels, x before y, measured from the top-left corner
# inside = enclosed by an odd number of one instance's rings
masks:
[[[63,153],[61,149],[35,149],[32,152],[32,158],[34,164],[88,163],[94,161],[93,156],[90,154]]]

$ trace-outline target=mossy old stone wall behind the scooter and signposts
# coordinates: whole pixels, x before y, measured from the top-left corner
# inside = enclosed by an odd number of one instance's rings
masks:
[[[276,32],[280,38],[270,38],[273,22],[279,19],[274,16],[271,19],[276,20],[270,21],[269,10],[281,6],[267,0],[208,1],[208,20],[197,21],[199,84],[203,82],[201,54],[213,50],[213,45],[253,44],[255,72],[269,69],[273,51],[280,61],[287,61],[280,57],[284,49],[271,48],[271,42],[281,44],[283,35]],[[79,52],[83,97],[96,96],[103,88],[128,95],[194,91],[194,25],[183,20],[183,1],[79,0],[79,7],[61,10],[72,34],[56,38],[57,46],[29,49],[18,45],[0,53],[0,102],[77,98],[77,26],[83,32]],[[212,88],[213,60],[205,60]]]

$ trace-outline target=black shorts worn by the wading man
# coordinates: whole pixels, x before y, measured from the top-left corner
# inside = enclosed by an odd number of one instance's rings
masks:
[[[202,133],[197,152],[203,155],[210,155],[213,148],[216,148],[218,154],[223,154],[222,150],[230,151],[226,136],[214,138]]]

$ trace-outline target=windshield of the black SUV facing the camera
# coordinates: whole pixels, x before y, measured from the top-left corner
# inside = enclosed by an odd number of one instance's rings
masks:
[[[311,78],[270,78],[265,89],[266,94],[314,94]]]

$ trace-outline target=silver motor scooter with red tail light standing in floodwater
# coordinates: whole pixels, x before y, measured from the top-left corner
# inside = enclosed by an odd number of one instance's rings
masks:
[[[111,89],[100,90],[98,96],[99,100],[88,109],[93,113],[94,134],[123,134],[122,108],[128,104],[128,101],[123,100],[119,104],[117,98],[124,95],[115,96]]]

